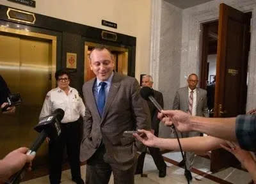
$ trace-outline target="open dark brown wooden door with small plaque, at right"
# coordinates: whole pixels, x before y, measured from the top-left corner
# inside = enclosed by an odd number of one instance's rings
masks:
[[[250,19],[248,13],[220,4],[214,117],[245,114]],[[212,151],[212,172],[237,164],[239,162],[227,151]]]

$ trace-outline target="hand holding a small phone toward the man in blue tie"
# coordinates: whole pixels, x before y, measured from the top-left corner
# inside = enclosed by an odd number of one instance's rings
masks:
[[[133,134],[139,141],[149,147],[154,147],[157,137],[148,130],[138,130],[139,134]]]

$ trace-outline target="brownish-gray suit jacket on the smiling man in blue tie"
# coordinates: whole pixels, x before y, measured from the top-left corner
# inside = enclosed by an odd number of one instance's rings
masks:
[[[96,79],[84,83],[83,95],[86,106],[80,160],[92,157],[103,141],[109,164],[118,169],[129,169],[136,162],[138,142],[124,137],[125,130],[150,129],[150,112],[147,102],[140,96],[140,86],[133,77],[114,73],[108,98],[100,118],[93,96]],[[138,143],[138,144],[137,144]]]

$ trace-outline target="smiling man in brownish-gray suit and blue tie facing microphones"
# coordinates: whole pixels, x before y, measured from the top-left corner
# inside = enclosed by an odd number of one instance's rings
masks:
[[[140,143],[123,132],[150,129],[147,102],[136,79],[113,72],[113,55],[105,47],[92,50],[90,68],[96,77],[83,86],[86,112],[80,154],[81,161],[87,161],[86,183],[108,183],[112,172],[115,184],[134,183]]]

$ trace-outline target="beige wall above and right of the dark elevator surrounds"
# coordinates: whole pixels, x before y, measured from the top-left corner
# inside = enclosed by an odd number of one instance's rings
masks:
[[[1,0],[1,4],[49,17],[68,20],[136,37],[136,78],[149,72],[150,0],[40,0],[36,8]],[[117,29],[101,26],[101,20],[117,24]]]

